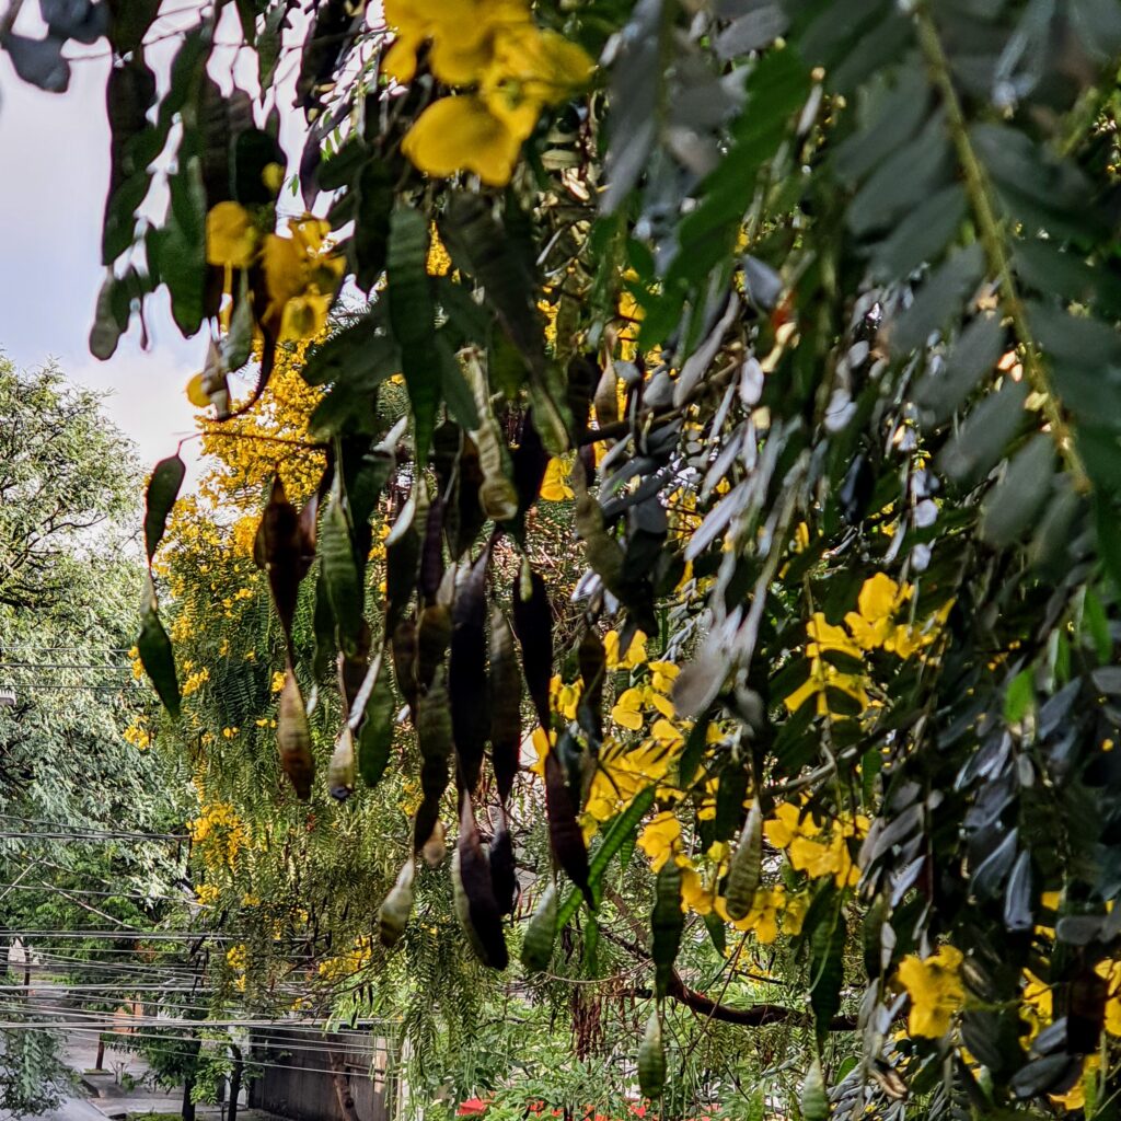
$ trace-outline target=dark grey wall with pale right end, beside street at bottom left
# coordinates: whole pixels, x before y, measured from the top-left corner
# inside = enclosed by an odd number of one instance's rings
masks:
[[[330,1054],[323,1036],[299,1028],[254,1031],[254,1058],[270,1064],[249,1083],[249,1104],[290,1121],[343,1121],[331,1080]],[[343,1062],[361,1121],[390,1121],[387,1105],[386,1047],[368,1031],[341,1031],[331,1046],[345,1043]],[[289,1047],[285,1054],[286,1045]],[[277,1066],[272,1064],[282,1064]]]

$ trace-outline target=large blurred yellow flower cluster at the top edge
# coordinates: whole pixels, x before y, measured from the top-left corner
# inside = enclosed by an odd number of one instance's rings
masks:
[[[411,81],[427,43],[433,74],[461,91],[433,102],[405,137],[401,150],[428,175],[473,172],[503,186],[541,110],[591,74],[587,55],[538,28],[526,0],[386,0],[385,13],[397,33],[385,72]]]

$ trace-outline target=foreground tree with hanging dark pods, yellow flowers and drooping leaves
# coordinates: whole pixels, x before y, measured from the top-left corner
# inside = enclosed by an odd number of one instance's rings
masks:
[[[418,928],[453,910],[495,974],[508,937],[528,973],[569,980],[619,951],[642,974],[627,999],[652,1000],[639,1084],[673,1110],[712,1087],[689,1080],[701,1044],[667,1066],[667,1038],[719,1022],[799,1034],[800,1087],[778,1088],[807,1118],[1109,1114],[1115,6],[387,2],[380,27],[337,0],[302,31],[288,7],[237,10],[266,101],[300,50],[298,160],[277,114],[256,127],[209,75],[220,8],[166,87],[150,9],[70,7],[40,41],[6,28],[45,87],[65,85],[68,38],[114,55],[95,353],[166,286],[184,333],[217,339],[192,392],[221,426],[324,331],[344,278],[365,296],[300,369],[322,396],[291,438],[322,476],[272,484],[256,532],[280,687],[251,816],[281,851],[314,835],[328,756],[337,796],[355,766],[374,785],[367,807],[417,784],[410,836],[392,818],[340,842],[336,872],[362,845],[367,876],[390,852],[400,868],[379,929],[404,948],[371,960],[446,993],[458,974]],[[285,229],[286,182],[327,216]],[[233,401],[242,367],[257,389]],[[149,558],[176,463],[156,478]],[[543,575],[559,535],[534,552],[566,521],[537,513],[546,478],[573,492],[575,589]],[[217,547],[221,510],[210,524]],[[174,714],[152,591],[142,636]],[[253,688],[213,704],[267,724]],[[539,779],[511,800],[519,715]],[[200,756],[245,788],[240,760]],[[519,871],[537,909],[511,929]],[[362,895],[333,882],[344,929]],[[763,953],[795,999],[741,976]]]

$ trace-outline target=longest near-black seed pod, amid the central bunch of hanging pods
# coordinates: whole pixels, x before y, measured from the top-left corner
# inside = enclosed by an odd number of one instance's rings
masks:
[[[479,785],[490,712],[487,705],[487,567],[490,548],[483,549],[460,586],[452,611],[452,652],[447,663],[447,691],[452,702],[452,740],[456,780],[469,795]]]

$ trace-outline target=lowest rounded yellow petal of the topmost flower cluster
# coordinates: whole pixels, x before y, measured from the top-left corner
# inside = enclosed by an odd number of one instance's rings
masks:
[[[489,186],[501,187],[510,182],[521,141],[472,94],[429,105],[401,150],[427,175],[474,172]]]

